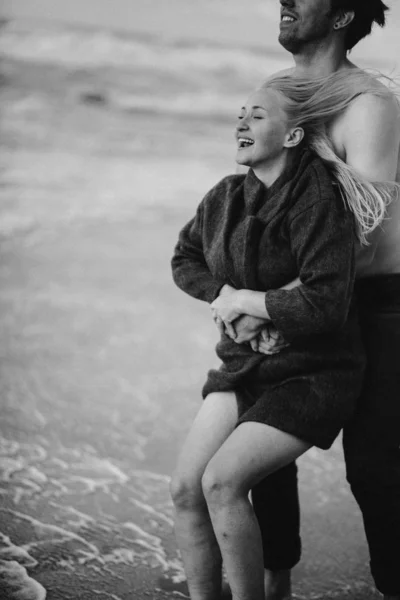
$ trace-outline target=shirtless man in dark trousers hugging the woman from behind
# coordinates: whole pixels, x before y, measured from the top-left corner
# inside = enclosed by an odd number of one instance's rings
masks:
[[[279,42],[302,76],[356,68],[348,51],[383,26],[381,0],[280,0]],[[371,181],[400,182],[397,100],[359,96],[330,125],[336,153]],[[369,368],[356,417],[344,430],[347,478],[364,518],[371,571],[385,600],[400,600],[400,201],[357,257],[358,297]],[[238,343],[265,323],[243,317]],[[253,502],[264,542],[267,600],[291,598],[290,569],[300,559],[294,464],[261,482]]]

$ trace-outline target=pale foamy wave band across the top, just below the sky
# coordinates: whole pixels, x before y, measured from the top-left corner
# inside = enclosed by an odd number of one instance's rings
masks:
[[[285,65],[288,60],[273,48],[222,46],[151,36],[120,35],[110,31],[44,26],[12,21],[2,31],[0,50],[6,57],[67,67],[159,68],[170,72],[220,71],[265,74],[268,62]]]

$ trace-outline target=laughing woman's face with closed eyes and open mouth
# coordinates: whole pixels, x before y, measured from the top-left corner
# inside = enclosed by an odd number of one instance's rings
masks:
[[[282,96],[270,89],[257,90],[242,107],[236,127],[236,162],[248,167],[268,166],[285,152],[289,128]]]

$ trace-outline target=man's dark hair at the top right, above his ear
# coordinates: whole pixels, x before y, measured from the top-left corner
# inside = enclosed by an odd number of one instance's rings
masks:
[[[372,25],[383,27],[388,7],[382,0],[332,0],[333,10],[354,10],[354,19],[347,26],[346,50],[351,50],[360,40],[371,33]]]

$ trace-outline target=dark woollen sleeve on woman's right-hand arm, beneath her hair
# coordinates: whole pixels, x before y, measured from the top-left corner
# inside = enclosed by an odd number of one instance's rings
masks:
[[[289,235],[301,285],[266,292],[270,318],[288,341],[333,332],[344,325],[353,293],[353,215],[332,191],[291,220]]]

